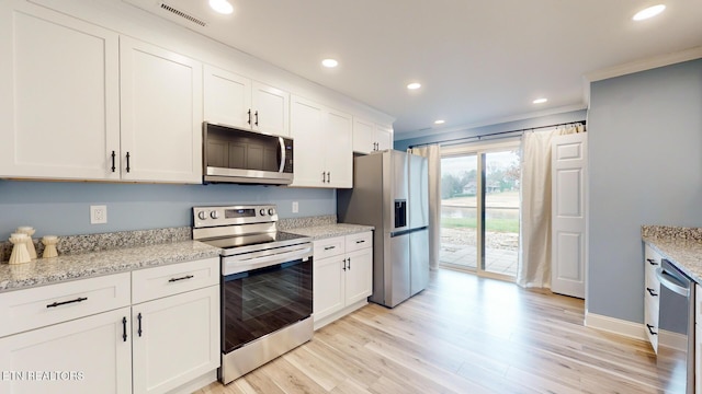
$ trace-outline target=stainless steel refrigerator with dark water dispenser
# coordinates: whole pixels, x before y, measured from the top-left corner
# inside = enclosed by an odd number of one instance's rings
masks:
[[[373,294],[394,308],[429,282],[427,159],[386,150],[353,160],[353,188],[337,190],[342,223],[375,227]]]

